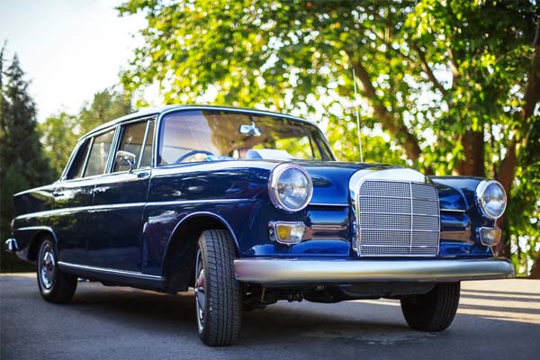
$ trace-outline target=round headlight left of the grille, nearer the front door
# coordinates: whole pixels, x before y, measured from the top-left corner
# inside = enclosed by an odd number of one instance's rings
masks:
[[[268,183],[270,200],[284,211],[301,211],[311,202],[313,183],[310,174],[301,166],[275,166]]]

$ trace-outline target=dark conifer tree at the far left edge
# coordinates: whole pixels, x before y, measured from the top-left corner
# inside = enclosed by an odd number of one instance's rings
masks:
[[[9,234],[14,217],[13,194],[51,181],[47,158],[36,130],[36,108],[28,94],[28,81],[19,60],[4,70],[0,51],[0,238]],[[4,241],[2,241],[4,247]],[[2,270],[19,267],[14,257],[2,251]]]

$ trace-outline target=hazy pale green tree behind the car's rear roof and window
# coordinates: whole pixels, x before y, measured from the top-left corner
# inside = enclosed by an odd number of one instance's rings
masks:
[[[41,141],[56,178],[62,174],[76,140],[86,132],[132,112],[130,97],[119,89],[106,88],[94,94],[76,115],[59,112],[40,124]]]

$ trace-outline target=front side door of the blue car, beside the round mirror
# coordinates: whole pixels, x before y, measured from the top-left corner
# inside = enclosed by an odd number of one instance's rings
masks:
[[[127,151],[135,155],[136,162],[130,169],[112,161],[109,171],[95,185],[86,257],[91,266],[139,272],[154,121],[130,121],[119,125],[118,131],[112,154]]]

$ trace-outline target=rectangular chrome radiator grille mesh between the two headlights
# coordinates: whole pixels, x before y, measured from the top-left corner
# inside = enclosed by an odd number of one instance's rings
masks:
[[[434,186],[365,180],[356,211],[360,257],[437,256],[440,220]]]

